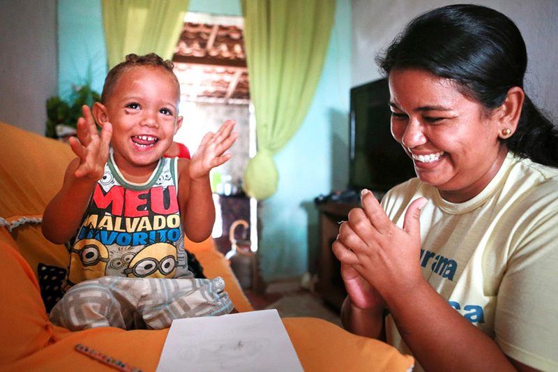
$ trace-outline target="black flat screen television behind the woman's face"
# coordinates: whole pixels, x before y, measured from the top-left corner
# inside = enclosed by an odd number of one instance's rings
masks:
[[[391,135],[387,79],[350,91],[349,189],[386,193],[416,177],[412,160]]]

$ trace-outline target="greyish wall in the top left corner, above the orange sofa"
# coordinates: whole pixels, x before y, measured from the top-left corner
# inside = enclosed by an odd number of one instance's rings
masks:
[[[45,134],[56,94],[56,0],[0,1],[0,121]]]

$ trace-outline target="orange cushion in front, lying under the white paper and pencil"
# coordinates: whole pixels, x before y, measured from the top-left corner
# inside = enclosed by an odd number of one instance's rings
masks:
[[[283,324],[304,371],[409,371],[414,359],[377,340],[356,336],[325,320],[285,318]],[[144,371],[155,371],[168,329],[123,331],[112,327],[63,334],[61,340],[8,366],[6,371],[114,371],[74,350],[81,343]],[[188,362],[186,361],[186,364]],[[187,369],[187,368],[186,368]]]

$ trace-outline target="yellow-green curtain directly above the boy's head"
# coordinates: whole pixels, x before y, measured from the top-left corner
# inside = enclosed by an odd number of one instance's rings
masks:
[[[172,59],[190,0],[102,0],[109,68],[127,54]]]

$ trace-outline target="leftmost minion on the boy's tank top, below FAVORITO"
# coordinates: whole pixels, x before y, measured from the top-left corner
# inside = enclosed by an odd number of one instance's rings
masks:
[[[68,285],[105,276],[109,251],[96,239],[82,239],[70,249]]]

